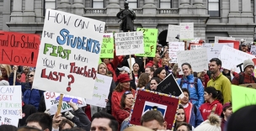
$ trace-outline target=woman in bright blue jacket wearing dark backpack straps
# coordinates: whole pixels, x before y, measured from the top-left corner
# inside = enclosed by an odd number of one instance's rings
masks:
[[[200,79],[194,77],[192,67],[189,63],[184,63],[181,65],[184,75],[182,78],[178,79],[178,84],[182,88],[187,88],[189,90],[189,100],[196,107],[200,107],[204,103],[204,86]]]

